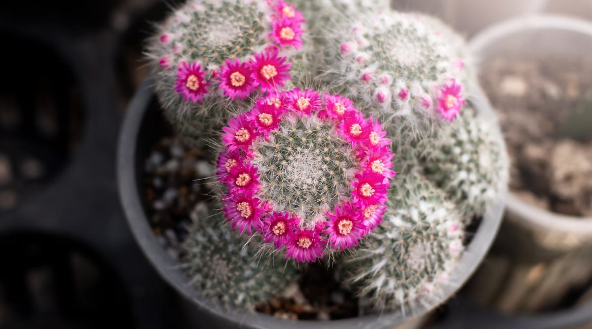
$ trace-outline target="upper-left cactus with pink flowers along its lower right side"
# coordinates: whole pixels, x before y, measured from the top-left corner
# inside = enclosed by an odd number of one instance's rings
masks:
[[[157,27],[147,55],[178,135],[201,147],[250,98],[285,86],[303,22],[282,0],[189,0]]]

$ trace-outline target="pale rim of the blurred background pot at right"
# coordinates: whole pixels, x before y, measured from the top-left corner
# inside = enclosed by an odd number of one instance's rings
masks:
[[[487,47],[511,34],[532,30],[560,30],[579,33],[590,37],[592,42],[592,22],[565,15],[533,14],[498,22],[485,28],[469,41],[469,49],[474,56],[484,53]],[[592,235],[592,217],[578,217],[551,212],[522,201],[515,193],[509,192],[507,211],[520,220],[545,227],[581,235]]]

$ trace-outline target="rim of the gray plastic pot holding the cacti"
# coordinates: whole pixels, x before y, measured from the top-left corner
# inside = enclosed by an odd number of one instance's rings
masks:
[[[133,236],[136,238],[140,249],[146,258],[156,268],[157,272],[169,285],[180,293],[185,299],[196,305],[200,311],[209,314],[218,321],[231,321],[240,328],[262,329],[262,328],[285,328],[301,329],[303,325],[307,328],[339,328],[339,329],[383,329],[392,328],[394,325],[419,319],[420,316],[428,314],[437,306],[448,300],[468,280],[472,273],[480,265],[481,260],[489,250],[491,243],[496,237],[503,215],[506,193],[500,196],[487,208],[482,221],[474,234],[474,237],[462,256],[458,260],[456,269],[450,276],[450,284],[442,287],[436,302],[429,305],[419,305],[413,308],[412,315],[403,314],[401,310],[384,312],[382,314],[364,315],[362,317],[349,318],[331,321],[307,321],[307,320],[282,320],[267,314],[239,314],[224,313],[217,308],[211,307],[207,302],[199,299],[197,292],[188,283],[190,278],[182,271],[177,260],[166,253],[154,236],[137,190],[136,182],[136,149],[141,122],[149,108],[148,105],[154,97],[152,91],[153,80],[146,79],[134,95],[124,117],[118,141],[117,150],[117,181],[120,201],[126,219]],[[484,93],[478,86],[475,86],[475,95],[480,99],[480,104],[486,104],[485,112],[493,112]]]

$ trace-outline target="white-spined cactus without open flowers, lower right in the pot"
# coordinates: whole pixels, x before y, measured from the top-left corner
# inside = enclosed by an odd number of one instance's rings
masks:
[[[357,256],[342,261],[342,280],[373,308],[401,309],[438,301],[462,245],[462,217],[443,191],[421,175],[406,176],[389,195],[384,221]]]

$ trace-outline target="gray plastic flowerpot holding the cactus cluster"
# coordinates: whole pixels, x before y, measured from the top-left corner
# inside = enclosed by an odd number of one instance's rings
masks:
[[[477,95],[474,102],[478,108],[484,109],[484,115],[491,115],[493,111],[487,99],[479,88],[472,94]],[[127,110],[123,127],[121,127],[118,146],[117,173],[118,185],[124,211],[131,231],[146,257],[182,298],[187,301],[185,308],[196,321],[194,326],[201,328],[249,328],[249,329],[301,329],[306,328],[335,328],[335,329],[391,329],[416,328],[420,322],[437,307],[455,293],[477,268],[491,241],[496,236],[503,212],[504,198],[500,198],[487,210],[480,225],[474,232],[471,243],[462,254],[458,267],[451,275],[451,284],[443,287],[442,295],[437,301],[429,305],[422,305],[414,309],[413,314],[403,315],[402,312],[385,312],[383,314],[365,315],[347,320],[333,321],[292,321],[282,320],[265,314],[236,314],[221,312],[208,305],[208,302],[198,298],[194,286],[189,283],[177,260],[172,259],[161,247],[150,230],[142,201],[140,199],[140,181],[143,159],[150,151],[150,147],[159,132],[162,131],[163,118],[152,92],[152,81],[146,80],[136,96],[134,96]],[[471,233],[473,234],[473,233]]]

